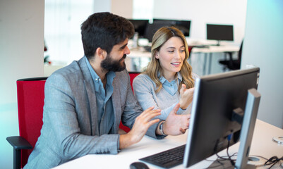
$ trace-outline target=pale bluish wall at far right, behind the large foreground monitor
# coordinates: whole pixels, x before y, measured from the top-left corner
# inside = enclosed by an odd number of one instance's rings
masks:
[[[249,0],[241,68],[260,67],[258,118],[283,128],[283,1]]]

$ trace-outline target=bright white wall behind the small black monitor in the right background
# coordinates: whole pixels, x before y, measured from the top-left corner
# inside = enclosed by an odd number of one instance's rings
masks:
[[[153,18],[191,20],[190,38],[193,39],[206,39],[207,23],[234,25],[231,44],[240,45],[246,23],[246,1],[155,0]]]

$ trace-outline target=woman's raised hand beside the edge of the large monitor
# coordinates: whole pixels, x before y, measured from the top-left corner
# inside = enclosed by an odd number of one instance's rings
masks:
[[[186,84],[182,84],[182,87],[180,89],[180,108],[182,108],[183,110],[185,110],[188,105],[191,104],[191,102],[193,101],[193,92],[195,91],[195,88],[190,88],[190,89],[186,89]]]

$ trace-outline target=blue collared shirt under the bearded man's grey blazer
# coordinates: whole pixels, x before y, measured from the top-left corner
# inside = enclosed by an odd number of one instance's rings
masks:
[[[114,108],[112,104],[112,94],[113,94],[113,80],[115,73],[110,71],[106,74],[107,84],[105,89],[100,77],[95,73],[95,70],[90,65],[88,58],[85,57],[85,61],[90,70],[90,75],[95,84],[95,96],[97,104],[97,124],[99,127],[100,135],[109,134],[112,126],[114,124]]]

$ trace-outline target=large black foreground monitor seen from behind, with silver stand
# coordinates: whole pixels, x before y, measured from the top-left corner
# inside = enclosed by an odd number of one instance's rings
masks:
[[[256,93],[259,72],[259,68],[250,68],[195,80],[191,122],[183,158],[185,167],[227,149],[229,139],[229,146],[235,144],[239,141],[241,130],[241,135],[244,135],[241,136],[240,147],[243,147],[245,154],[243,156],[239,152],[238,158],[241,163],[247,162],[259,100],[257,96],[255,104],[250,103],[253,99],[248,99],[248,104],[246,101],[249,92]],[[252,90],[248,92],[249,89]],[[242,125],[245,121],[248,122]]]

